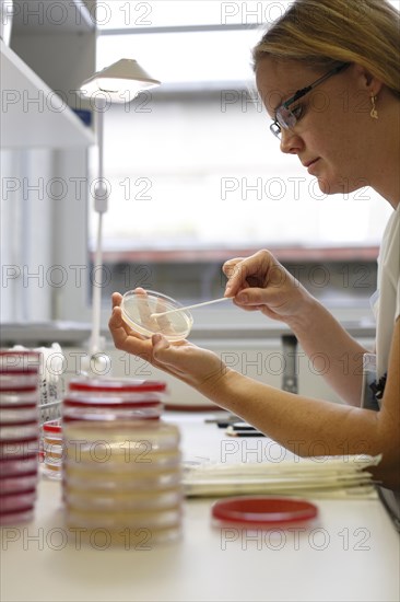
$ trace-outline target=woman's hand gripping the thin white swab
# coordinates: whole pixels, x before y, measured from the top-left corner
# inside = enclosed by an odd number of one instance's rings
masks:
[[[258,310],[272,320],[290,323],[311,299],[269,251],[230,259],[222,269],[228,278],[225,297],[235,297],[234,303],[243,310]]]

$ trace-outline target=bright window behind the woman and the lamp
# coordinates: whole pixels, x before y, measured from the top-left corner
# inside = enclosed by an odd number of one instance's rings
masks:
[[[138,285],[185,301],[221,294],[221,264],[261,247],[292,264],[375,263],[390,208],[369,188],[323,195],[280,153],[254,90],[251,48],[286,5],[115,2],[104,14],[98,68],[131,57],[162,81],[107,111],[105,297]]]

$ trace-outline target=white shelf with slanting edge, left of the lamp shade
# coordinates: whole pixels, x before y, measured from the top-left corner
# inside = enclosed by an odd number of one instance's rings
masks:
[[[0,40],[2,148],[71,148],[94,143],[93,131]]]

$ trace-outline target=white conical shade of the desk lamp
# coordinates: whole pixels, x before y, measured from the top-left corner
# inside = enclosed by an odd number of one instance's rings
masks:
[[[82,96],[93,96],[97,92],[106,94],[113,103],[132,101],[142,90],[160,85],[134,59],[122,58],[94,73],[80,89]],[[128,99],[127,99],[128,94]]]

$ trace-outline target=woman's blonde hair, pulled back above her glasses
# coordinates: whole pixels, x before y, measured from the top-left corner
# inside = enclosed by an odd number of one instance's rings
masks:
[[[252,51],[330,69],[356,62],[400,97],[399,11],[386,0],[295,0]]]

